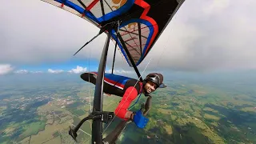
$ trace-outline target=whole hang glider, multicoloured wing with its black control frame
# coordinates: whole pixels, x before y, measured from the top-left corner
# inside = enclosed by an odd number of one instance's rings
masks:
[[[97,38],[98,35],[102,33],[107,34],[106,43],[102,50],[102,57],[98,66],[93,112],[87,118],[79,122],[78,126],[74,129],[70,129],[70,135],[75,139],[77,136],[76,131],[82,123],[88,119],[93,119],[92,143],[102,143],[102,122],[109,122],[114,116],[113,112],[102,111],[102,79],[104,78],[106,55],[110,39],[115,42],[116,47],[119,47],[124,58],[126,58],[126,62],[129,66],[134,67],[138,78],[142,81],[137,66],[146,58],[146,55],[149,54],[154,43],[157,42],[163,30],[165,30],[166,26],[185,0],[41,1],[67,10],[92,23],[94,26],[97,26],[100,30],[94,38]],[[94,38],[86,42],[84,46],[93,41]],[[82,46],[82,48],[84,46]],[[80,50],[82,50],[82,48]],[[123,126],[119,126],[121,127],[119,130],[122,131]]]

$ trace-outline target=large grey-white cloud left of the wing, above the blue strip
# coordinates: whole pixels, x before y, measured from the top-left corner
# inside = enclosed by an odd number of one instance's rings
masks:
[[[15,17],[14,10],[20,11],[22,17]],[[99,31],[90,22],[66,10],[34,0],[4,2],[0,5],[0,19],[0,62],[62,62]],[[38,26],[42,27],[38,29]],[[105,37],[106,34],[102,34],[90,42],[88,46],[96,47],[91,57],[100,54],[98,47],[104,45]],[[86,48],[75,58],[85,55],[89,56]]]

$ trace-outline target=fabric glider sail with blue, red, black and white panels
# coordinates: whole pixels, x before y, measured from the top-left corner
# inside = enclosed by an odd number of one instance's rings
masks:
[[[125,43],[132,60],[138,66],[176,11],[185,0],[42,0],[94,24],[98,28],[106,23],[120,21],[117,30],[111,30],[111,37],[118,42],[126,62],[130,66]],[[122,41],[122,42],[121,42]]]

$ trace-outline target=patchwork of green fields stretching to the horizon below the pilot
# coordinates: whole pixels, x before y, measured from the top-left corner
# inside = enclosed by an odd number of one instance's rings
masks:
[[[185,80],[166,84],[166,89],[152,94],[146,128],[128,124],[117,143],[256,143],[253,86]],[[2,89],[6,91],[1,93],[0,143],[75,143],[69,126],[90,114],[94,94],[93,85],[76,82]],[[103,110],[114,111],[120,100],[104,94]],[[140,109],[145,101],[142,95],[131,110]],[[103,124],[103,130],[108,126],[103,136],[118,122],[115,118],[110,126]],[[90,134],[88,121],[78,130],[78,143],[90,143]]]

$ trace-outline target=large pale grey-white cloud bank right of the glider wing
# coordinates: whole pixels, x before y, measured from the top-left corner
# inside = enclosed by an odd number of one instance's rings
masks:
[[[184,2],[142,66],[153,58],[147,70],[256,69],[255,5],[251,0]]]

